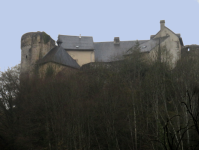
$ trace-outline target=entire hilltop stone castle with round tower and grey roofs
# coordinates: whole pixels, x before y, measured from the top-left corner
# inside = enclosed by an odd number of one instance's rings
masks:
[[[149,40],[138,40],[140,52],[147,57],[154,57],[158,46],[165,46],[171,54],[171,63],[181,57],[181,51],[189,51],[191,46],[184,46],[181,35],[174,33],[160,21],[160,30],[151,35]],[[93,62],[111,62],[121,59],[134,47],[136,41],[120,41],[115,37],[111,42],[93,42],[91,36],[59,35],[57,45],[45,32],[26,33],[21,38],[21,73],[38,72],[44,76],[54,70],[70,72]]]

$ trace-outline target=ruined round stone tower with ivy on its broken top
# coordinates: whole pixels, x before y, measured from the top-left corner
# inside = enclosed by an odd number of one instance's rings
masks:
[[[55,41],[45,32],[29,32],[21,37],[21,74],[30,75],[35,64],[53,47]]]

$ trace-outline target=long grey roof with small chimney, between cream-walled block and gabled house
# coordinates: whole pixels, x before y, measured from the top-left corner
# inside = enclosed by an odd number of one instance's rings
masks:
[[[145,43],[148,40],[139,40],[139,43]],[[118,60],[118,56],[123,56],[127,50],[135,45],[136,41],[120,41],[120,44],[114,42],[94,42],[94,52],[96,62],[110,62]]]

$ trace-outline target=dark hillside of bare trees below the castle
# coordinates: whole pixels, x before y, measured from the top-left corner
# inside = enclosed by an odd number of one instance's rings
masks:
[[[72,75],[0,77],[4,150],[199,149],[199,60],[173,69],[140,53]]]

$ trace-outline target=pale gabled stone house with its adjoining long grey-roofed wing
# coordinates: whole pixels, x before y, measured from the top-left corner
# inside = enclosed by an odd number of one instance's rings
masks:
[[[147,53],[147,57],[154,57],[159,46],[165,46],[172,55],[172,63],[175,64],[180,58],[181,48],[184,46],[180,34],[175,34],[165,26],[165,21],[160,21],[160,30],[157,34],[151,35],[149,40],[138,40],[142,53]],[[95,61],[110,62],[113,59],[121,58],[130,53],[134,47],[134,41],[120,41],[115,37],[111,42],[94,42]]]

